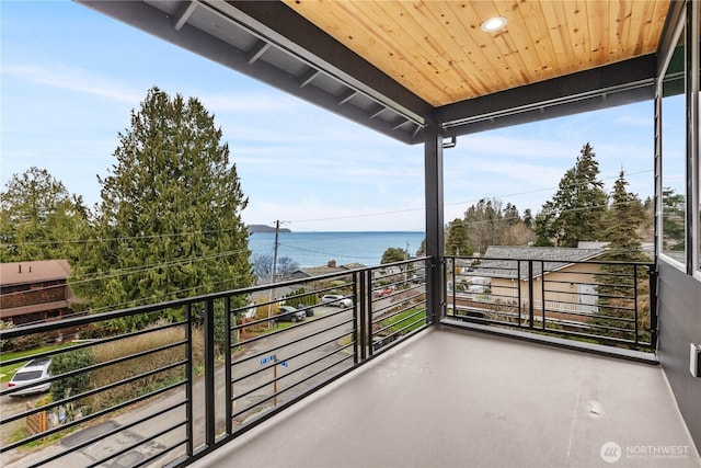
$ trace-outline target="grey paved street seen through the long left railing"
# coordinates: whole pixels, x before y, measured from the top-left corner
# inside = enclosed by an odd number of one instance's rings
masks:
[[[265,336],[254,343],[250,343],[233,357],[232,379],[250,375],[244,380],[237,381],[232,391],[237,395],[234,401],[234,413],[249,409],[235,418],[234,424],[242,424],[246,420],[258,415],[263,411],[269,410],[274,403],[281,404],[306,389],[318,385],[322,379],[327,378],[330,373],[337,373],[340,368],[332,368],[322,372],[322,368],[331,362],[340,361],[348,356],[348,352],[341,355],[325,357],[342,347],[341,336],[348,335],[353,331],[352,311],[341,312],[340,308],[319,306],[314,308],[314,316],[307,317],[303,321],[295,323],[281,333]],[[350,321],[348,323],[344,323]],[[325,344],[322,344],[327,342]],[[350,340],[347,340],[349,343]],[[300,354],[301,353],[301,354]],[[275,367],[273,361],[261,363],[265,357],[275,354],[279,359]],[[297,356],[297,354],[300,354]],[[312,364],[314,361],[319,363]],[[283,364],[285,363],[285,364]],[[346,359],[343,366],[352,366],[353,361]],[[277,390],[281,391],[295,384],[299,384],[290,391],[279,395],[275,401],[273,397],[274,374],[277,374]],[[317,375],[315,375],[317,374]],[[300,384],[306,378],[313,376],[308,381]],[[221,433],[226,426],[226,378],[225,366],[218,365],[215,374],[215,414],[217,419],[217,433]],[[23,404],[30,402],[34,404],[41,397],[12,399],[5,397],[2,400],[3,418],[11,414],[10,411],[19,412],[24,409]],[[110,464],[112,466],[129,466],[143,460],[151,455],[158,454],[165,447],[182,445],[185,435],[186,421],[185,406],[179,404],[185,401],[185,389],[180,387],[166,396],[156,398],[138,407],[134,407],[128,412],[114,416],[101,424],[82,429],[61,438],[54,445],[37,448],[32,452],[11,450],[2,454],[0,464],[3,467],[21,467],[31,463],[36,463],[51,454],[58,454],[66,447],[74,447],[84,441],[100,437],[115,429],[128,427],[114,436],[104,436],[96,443],[91,444],[71,455],[71,465],[90,465],[103,459],[111,454],[125,452],[115,457]],[[169,408],[171,408],[169,410]],[[205,380],[196,378],[193,385],[193,438],[195,446],[205,442]],[[143,421],[146,418],[150,419]],[[142,422],[139,422],[142,421]],[[23,420],[18,421],[22,425]],[[172,431],[152,438],[154,434],[173,427]],[[234,426],[235,430],[235,426]],[[3,444],[7,434],[2,434]],[[9,435],[7,435],[9,436]],[[138,446],[137,446],[138,445]],[[136,446],[134,449],[128,447]],[[162,466],[169,460],[182,454],[184,448],[173,450],[163,457],[158,458],[151,466]]]

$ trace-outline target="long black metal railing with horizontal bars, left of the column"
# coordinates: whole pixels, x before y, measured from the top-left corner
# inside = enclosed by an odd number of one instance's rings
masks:
[[[3,369],[51,359],[48,393],[0,390],[32,403],[3,408],[2,463],[187,465],[424,330],[426,274],[409,260],[2,330]]]

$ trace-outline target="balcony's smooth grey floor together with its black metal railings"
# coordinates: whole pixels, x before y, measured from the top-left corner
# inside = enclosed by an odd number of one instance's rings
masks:
[[[544,283],[544,307],[522,297],[506,315],[484,313],[518,296],[494,287],[480,293],[475,317],[453,286],[475,274],[459,271],[463,260],[444,265],[452,281],[443,319],[427,310],[432,265],[418,259],[3,331],[16,340],[78,330],[71,346],[32,357],[91,356],[50,377],[62,398],[3,408],[3,466],[596,466],[605,443],[617,444],[605,456],[619,447],[640,466],[698,466],[652,353],[654,309],[643,318],[644,300],[631,301],[651,294],[651,265],[629,265],[645,282],[620,276],[631,289],[616,304],[631,305],[630,317],[597,326],[613,293],[578,312],[567,306],[563,324],[549,293],[561,283],[545,263],[525,278],[531,292]],[[600,267],[575,271],[591,265]],[[581,284],[601,277],[579,273]],[[329,294],[341,299],[318,304]],[[165,315],[180,319],[145,319]],[[114,332],[136,317],[151,324]],[[22,401],[16,391],[0,391],[3,407]]]

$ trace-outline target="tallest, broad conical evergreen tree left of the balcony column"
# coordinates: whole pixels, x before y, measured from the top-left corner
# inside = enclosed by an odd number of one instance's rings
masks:
[[[84,297],[104,310],[250,286],[248,199],[214,116],[152,88],[130,122],[100,179],[100,242],[77,276],[102,279],[78,283]]]

